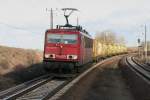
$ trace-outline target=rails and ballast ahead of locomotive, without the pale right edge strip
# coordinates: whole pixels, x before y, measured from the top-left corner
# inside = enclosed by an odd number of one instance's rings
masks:
[[[0,92],[0,100],[46,100],[64,87],[70,80],[56,79],[48,74]]]

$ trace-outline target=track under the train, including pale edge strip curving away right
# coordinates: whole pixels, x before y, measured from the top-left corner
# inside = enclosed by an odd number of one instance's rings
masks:
[[[0,92],[0,100],[56,100],[97,66],[110,61],[108,58],[70,79],[56,79],[48,74]]]

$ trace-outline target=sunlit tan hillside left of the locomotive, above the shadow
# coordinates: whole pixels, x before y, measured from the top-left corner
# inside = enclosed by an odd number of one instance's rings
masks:
[[[0,46],[0,75],[26,68],[42,61],[42,52]]]

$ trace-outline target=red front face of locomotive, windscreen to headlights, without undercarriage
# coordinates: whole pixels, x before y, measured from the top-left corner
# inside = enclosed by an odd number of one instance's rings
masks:
[[[78,61],[79,34],[71,31],[50,30],[46,32],[44,60]]]

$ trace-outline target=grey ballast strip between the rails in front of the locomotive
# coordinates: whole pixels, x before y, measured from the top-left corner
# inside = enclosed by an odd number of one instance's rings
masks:
[[[25,95],[17,98],[17,100],[47,100],[51,95],[59,91],[67,83],[68,81],[64,80],[51,80],[50,82],[36,88],[35,90],[32,90]]]

